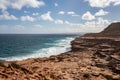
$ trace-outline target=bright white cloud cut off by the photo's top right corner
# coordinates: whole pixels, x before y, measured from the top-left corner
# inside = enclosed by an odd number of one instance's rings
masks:
[[[85,0],[88,1],[91,7],[105,8],[113,4],[120,5],[120,0]]]

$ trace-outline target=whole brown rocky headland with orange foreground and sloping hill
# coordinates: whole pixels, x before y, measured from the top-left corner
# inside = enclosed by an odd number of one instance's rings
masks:
[[[120,22],[71,42],[49,58],[0,62],[0,80],[120,80]]]

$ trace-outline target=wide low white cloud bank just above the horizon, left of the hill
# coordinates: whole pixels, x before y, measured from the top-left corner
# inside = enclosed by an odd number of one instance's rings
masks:
[[[100,32],[110,24],[110,21],[99,17],[94,21],[86,21],[84,23],[65,21],[65,24],[75,28],[77,32]]]

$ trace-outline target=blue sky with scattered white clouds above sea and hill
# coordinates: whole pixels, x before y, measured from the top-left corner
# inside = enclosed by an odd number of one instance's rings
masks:
[[[119,17],[120,0],[0,0],[0,34],[100,32]]]

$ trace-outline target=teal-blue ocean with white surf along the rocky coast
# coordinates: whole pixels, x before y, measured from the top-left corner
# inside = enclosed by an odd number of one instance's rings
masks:
[[[77,35],[67,34],[0,34],[0,60],[14,61],[49,57],[71,50]]]

